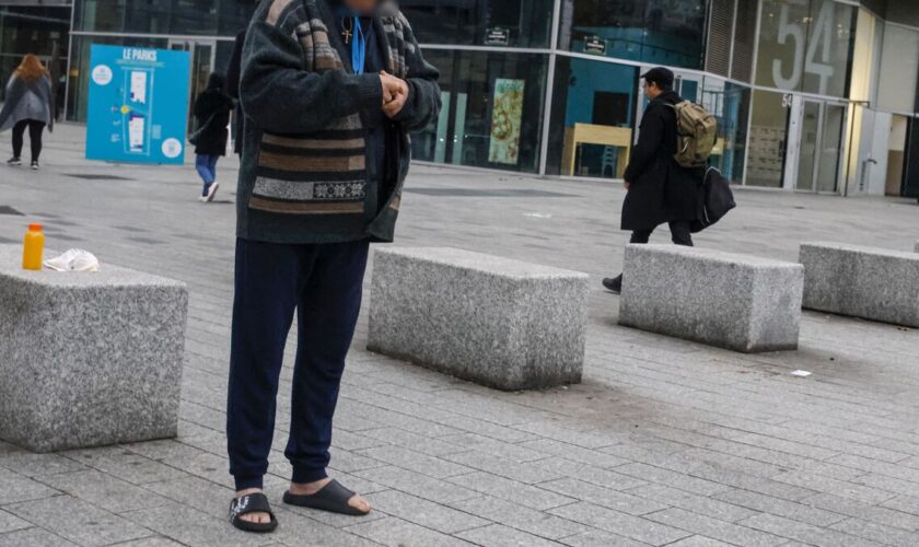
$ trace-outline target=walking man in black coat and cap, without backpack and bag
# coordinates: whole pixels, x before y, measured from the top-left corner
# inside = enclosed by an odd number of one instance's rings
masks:
[[[676,160],[677,135],[674,105],[683,97],[673,91],[674,75],[658,67],[641,75],[650,100],[626,167],[626,200],[623,230],[632,232],[629,243],[648,243],[661,224],[668,224],[673,243],[693,246],[693,221],[702,214],[700,187],[705,167],[682,167]],[[606,278],[603,287],[619,293],[623,276]]]

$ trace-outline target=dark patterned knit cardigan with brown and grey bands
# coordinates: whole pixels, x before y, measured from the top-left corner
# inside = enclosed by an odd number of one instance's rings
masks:
[[[370,181],[361,114],[381,107],[380,77],[353,73],[344,40],[329,32],[333,11],[328,0],[267,1],[249,27],[240,89],[251,120],[240,173],[242,237],[392,240],[409,163],[407,131],[437,118],[438,72],[402,13],[374,19],[388,72],[409,83],[410,98],[394,119],[398,150],[387,148],[399,155],[398,172],[383,174],[392,181]]]

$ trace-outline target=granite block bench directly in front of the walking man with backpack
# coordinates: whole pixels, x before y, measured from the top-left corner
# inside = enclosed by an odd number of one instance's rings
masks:
[[[675,245],[626,247],[619,324],[744,353],[798,348],[804,271]]]

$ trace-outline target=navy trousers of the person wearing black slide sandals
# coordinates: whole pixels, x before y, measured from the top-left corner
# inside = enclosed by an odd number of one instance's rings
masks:
[[[331,419],[361,307],[367,241],[324,245],[236,242],[226,404],[236,489],[261,488],[275,433],[284,342],[296,313],[290,438],[294,482],[326,477]]]

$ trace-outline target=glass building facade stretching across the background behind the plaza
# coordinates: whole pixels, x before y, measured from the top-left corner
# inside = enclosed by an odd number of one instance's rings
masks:
[[[38,53],[79,121],[92,44],[189,51],[190,100],[210,71],[225,70],[256,1],[70,3],[0,7],[0,78]],[[919,16],[909,0],[399,4],[442,72],[443,115],[414,137],[417,160],[619,179],[647,105],[639,74],[665,66],[676,91],[718,118],[710,164],[736,184],[919,193]]]

